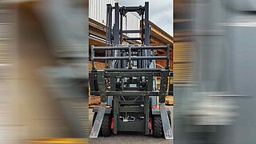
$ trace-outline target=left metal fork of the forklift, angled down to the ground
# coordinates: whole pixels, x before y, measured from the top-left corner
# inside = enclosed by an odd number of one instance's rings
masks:
[[[98,138],[98,133],[102,126],[105,110],[106,110],[106,102],[101,102],[101,106],[99,107],[98,114],[95,118],[94,126],[90,131],[90,138]]]

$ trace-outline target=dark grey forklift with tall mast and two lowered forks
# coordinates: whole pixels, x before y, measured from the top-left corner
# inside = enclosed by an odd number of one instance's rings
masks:
[[[140,30],[122,30],[122,19],[130,12],[141,17]],[[95,56],[97,50],[104,51],[105,57]],[[157,56],[157,50],[166,50],[166,55]],[[157,69],[157,59],[166,60],[166,66]],[[96,68],[99,60],[105,61],[105,69]],[[91,46],[91,62],[90,94],[100,96],[101,104],[93,110],[90,138],[126,131],[173,139],[170,110],[165,105],[168,79],[173,77],[170,45],[150,46],[149,2],[145,6],[106,5],[106,46]]]

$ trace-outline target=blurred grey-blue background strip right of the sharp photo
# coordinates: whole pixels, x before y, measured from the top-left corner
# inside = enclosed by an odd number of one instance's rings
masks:
[[[174,0],[174,143],[255,138],[254,0]]]

